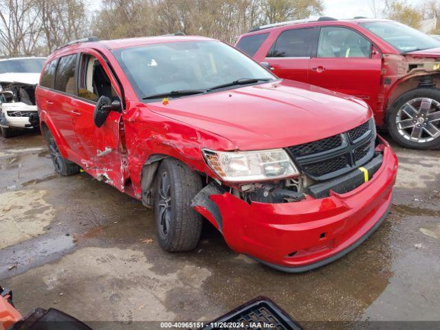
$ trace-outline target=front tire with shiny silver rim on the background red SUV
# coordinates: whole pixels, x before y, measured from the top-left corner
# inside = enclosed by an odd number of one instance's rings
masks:
[[[402,94],[388,112],[388,131],[406,148],[440,148],[440,89],[417,88]]]

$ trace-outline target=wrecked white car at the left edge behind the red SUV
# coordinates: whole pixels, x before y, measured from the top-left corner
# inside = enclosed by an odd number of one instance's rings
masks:
[[[0,60],[0,131],[3,137],[39,127],[34,94],[44,62],[44,57]]]

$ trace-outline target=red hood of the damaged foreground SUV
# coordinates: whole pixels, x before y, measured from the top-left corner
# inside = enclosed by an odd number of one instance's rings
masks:
[[[154,102],[148,109],[221,135],[239,150],[320,140],[372,116],[360,99],[292,80]]]

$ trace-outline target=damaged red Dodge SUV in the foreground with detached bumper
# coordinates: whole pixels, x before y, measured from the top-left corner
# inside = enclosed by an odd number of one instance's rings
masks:
[[[364,101],[220,41],[76,41],[47,59],[36,102],[56,172],[83,168],[154,208],[166,251],[195,248],[205,217],[235,252],[302,272],[391,206],[397,158]]]

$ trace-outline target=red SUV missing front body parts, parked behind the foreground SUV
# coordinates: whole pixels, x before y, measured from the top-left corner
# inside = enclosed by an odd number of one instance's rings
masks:
[[[289,21],[243,34],[239,50],[274,73],[362,98],[408,148],[440,147],[440,41],[395,21]]]

